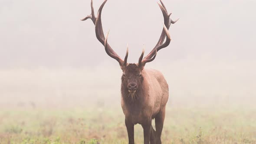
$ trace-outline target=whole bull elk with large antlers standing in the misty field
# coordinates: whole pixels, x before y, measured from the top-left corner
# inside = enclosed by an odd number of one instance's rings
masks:
[[[121,59],[108,44],[108,33],[104,36],[102,29],[102,8],[107,0],[99,7],[98,16],[95,17],[94,8],[91,1],[92,13],[83,20],[91,19],[95,25],[95,33],[98,41],[105,46],[108,56],[119,62],[123,71],[121,76],[121,107],[125,114],[125,126],[128,132],[129,144],[134,144],[134,125],[141,124],[144,131],[144,144],[161,144],[161,133],[164,125],[165,106],[169,97],[168,84],[161,72],[153,69],[144,69],[147,62],[155,59],[160,49],[167,47],[171,42],[168,29],[171,23],[177,20],[171,20],[171,13],[168,14],[164,3],[158,3],[163,16],[164,28],[157,45],[148,56],[144,57],[144,49],[141,53],[138,63],[127,63],[128,47],[125,59]],[[166,37],[166,41],[164,39]],[[152,119],[155,119],[155,128],[151,125]]]

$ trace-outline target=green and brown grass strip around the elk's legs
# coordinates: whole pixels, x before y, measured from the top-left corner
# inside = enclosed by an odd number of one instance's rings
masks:
[[[256,110],[167,107],[163,144],[256,144]],[[135,142],[143,130],[135,125]],[[127,144],[121,106],[0,111],[0,144]]]

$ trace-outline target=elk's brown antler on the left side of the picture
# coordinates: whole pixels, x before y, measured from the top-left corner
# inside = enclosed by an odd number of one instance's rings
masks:
[[[125,67],[127,65],[127,57],[128,57],[128,48],[126,51],[126,55],[125,55],[125,61],[123,61],[120,56],[118,56],[115,51],[111,48],[111,46],[109,46],[108,42],[107,42],[107,38],[105,39],[104,33],[103,33],[103,29],[102,29],[102,19],[101,19],[101,14],[102,14],[102,9],[105,5],[105,3],[107,2],[107,0],[105,0],[102,5],[99,7],[98,9],[98,16],[97,18],[94,15],[94,8],[93,8],[93,3],[91,0],[91,8],[92,8],[92,13],[88,16],[86,16],[84,19],[82,19],[82,21],[87,20],[87,19],[91,19],[92,22],[95,25],[95,33],[96,33],[96,37],[98,39],[98,41],[100,43],[102,43],[103,46],[105,46],[105,51],[107,52],[108,56],[112,57],[113,59],[116,59],[119,62],[119,65],[122,67]],[[107,36],[108,37],[108,33]]]

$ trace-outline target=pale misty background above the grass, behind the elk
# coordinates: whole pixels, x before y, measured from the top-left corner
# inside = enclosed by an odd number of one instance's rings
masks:
[[[95,13],[103,0],[94,0]],[[256,1],[163,0],[171,43],[146,69],[167,79],[169,105],[256,101]],[[0,105],[120,105],[121,69],[95,36],[90,0],[0,0]],[[163,28],[156,0],[108,0],[108,43],[129,63],[154,48]]]

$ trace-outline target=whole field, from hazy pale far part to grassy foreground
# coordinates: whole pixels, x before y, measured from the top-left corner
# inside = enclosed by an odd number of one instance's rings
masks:
[[[0,71],[0,144],[128,144],[120,71],[101,72]],[[163,144],[256,144],[254,71],[218,78],[199,70],[189,79],[179,72],[166,72]],[[135,142],[143,142],[139,124]]]

